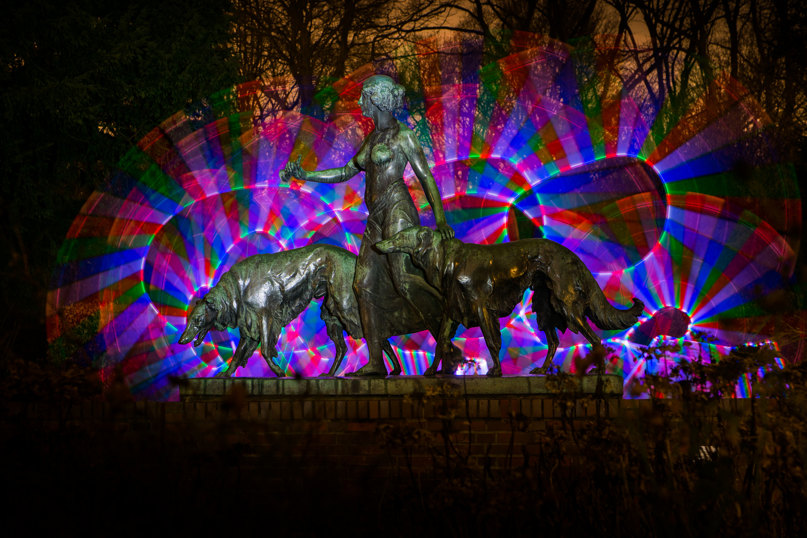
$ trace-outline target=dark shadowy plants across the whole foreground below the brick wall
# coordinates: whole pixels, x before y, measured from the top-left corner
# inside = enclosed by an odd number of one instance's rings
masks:
[[[668,351],[649,348],[647,357]],[[335,474],[328,467],[335,445],[245,419],[243,390],[224,402],[227,418],[188,421],[180,431],[153,427],[159,419],[143,411],[132,420],[123,405],[92,427],[71,423],[70,398],[56,398],[57,421],[27,419],[24,408],[0,415],[0,456],[11,462],[4,481],[15,493],[5,507],[33,527],[69,534],[129,536],[158,525],[278,536],[801,536],[807,367],[780,369],[775,356],[744,347],[720,360],[681,362],[634,387],[650,395],[642,411],[612,419],[575,419],[581,402],[602,407],[604,399],[576,394],[574,377],[554,373],[555,419],[504,419],[511,439],[504,468],[471,453],[469,425],[456,408],[462,395],[433,390],[419,398],[435,409],[428,419],[441,430],[378,427],[378,443],[405,461],[396,478],[384,479],[370,478],[372,465]],[[757,398],[724,398],[739,376],[751,377]],[[73,380],[86,386],[81,376]],[[30,398],[19,385],[15,394]],[[113,404],[127,397],[107,392]],[[131,429],[121,432],[124,413]],[[316,421],[308,425],[316,432]],[[520,432],[537,433],[533,453],[516,442]],[[412,470],[424,457],[432,466]]]

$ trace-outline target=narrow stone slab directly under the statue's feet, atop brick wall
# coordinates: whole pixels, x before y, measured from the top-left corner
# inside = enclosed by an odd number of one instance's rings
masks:
[[[458,394],[474,398],[551,398],[558,394],[547,386],[545,376],[388,376],[388,377],[197,377],[182,382],[179,394],[182,402],[215,401],[224,398],[235,385],[243,386],[246,396],[254,400],[378,399],[404,398],[425,394],[449,385]],[[574,392],[595,394],[602,383],[602,394],[620,398],[623,379],[616,374],[574,377]]]

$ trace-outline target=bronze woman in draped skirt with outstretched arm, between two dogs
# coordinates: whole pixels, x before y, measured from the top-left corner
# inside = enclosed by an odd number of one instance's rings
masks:
[[[358,297],[359,314],[370,360],[347,375],[387,375],[381,343],[389,336],[429,329],[437,342],[438,355],[457,356],[450,344],[456,324],[445,319],[445,301],[425,281],[420,269],[412,266],[408,254],[382,254],[374,245],[404,228],[420,224],[412,196],[403,182],[403,169],[412,165],[434,212],[437,232],[446,240],[454,230],[445,222],[440,192],[429,170],[423,148],[415,133],[391,115],[403,106],[403,86],[390,77],[374,75],[362,85],[358,104],[362,115],[373,120],[375,128],[353,158],[341,168],[307,172],[297,161],[289,161],[280,173],[282,181],[296,177],[303,181],[340,183],[360,171],[365,172],[365,202],[370,216],[359,248],[353,290]],[[442,326],[442,332],[441,332]],[[444,362],[444,371],[445,365]],[[450,364],[450,362],[449,362]]]

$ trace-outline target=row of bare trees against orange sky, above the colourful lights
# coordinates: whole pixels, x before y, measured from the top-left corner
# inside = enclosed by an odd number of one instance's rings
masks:
[[[800,0],[235,0],[232,48],[261,106],[316,110],[314,95],[353,69],[438,31],[493,42],[531,31],[575,42],[617,34],[641,91],[676,121],[728,72],[763,102],[788,140],[807,134],[807,40]],[[634,34],[637,23],[641,34]],[[646,28],[646,30],[645,30]],[[486,51],[486,60],[508,48]],[[633,73],[630,76],[630,73]],[[663,119],[663,118],[662,118]],[[782,131],[782,132],[784,132]]]

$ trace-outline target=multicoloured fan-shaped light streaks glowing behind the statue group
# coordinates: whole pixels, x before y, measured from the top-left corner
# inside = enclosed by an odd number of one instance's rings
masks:
[[[641,298],[640,321],[676,307],[726,349],[767,338],[773,321],[756,294],[792,274],[801,229],[796,182],[767,143],[767,116],[725,76],[679,115],[669,102],[654,106],[644,85],[624,82],[641,76],[628,55],[600,41],[574,49],[516,35],[512,54],[491,65],[481,65],[479,41],[417,44],[412,55],[366,65],[321,92],[316,117],[289,112],[256,122],[256,83],[212,99],[202,114],[172,116],[140,140],[73,223],[48,295],[52,348],[104,375],[122,365],[139,398],[170,398],[169,377],[212,375],[232,357],[236,331],[211,332],[199,348],[178,344],[178,334],[188,305],[233,263],[311,243],[358,252],[362,176],[286,186],[278,170],[297,154],[307,169],[322,169],[357,151],[372,127],[358,109],[361,82],[374,73],[408,88],[399,119],[420,136],[462,240],[557,240],[613,302]],[[420,186],[411,173],[405,179],[424,223],[433,224]],[[755,190],[760,180],[766,187]],[[530,293],[501,320],[504,373],[525,373],[546,355]],[[333,357],[318,308],[312,303],[282,332],[277,361],[289,373],[317,375]],[[631,331],[603,335],[617,348],[609,368],[628,380],[648,368]],[[461,330],[455,341],[484,364],[479,329]],[[366,347],[348,342],[349,370],[366,361]],[[428,333],[392,343],[405,373],[421,373],[433,357]],[[586,352],[567,333],[555,362],[570,369]],[[268,369],[256,352],[236,375]]]

